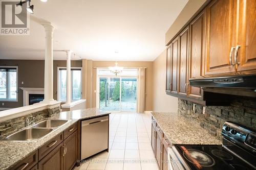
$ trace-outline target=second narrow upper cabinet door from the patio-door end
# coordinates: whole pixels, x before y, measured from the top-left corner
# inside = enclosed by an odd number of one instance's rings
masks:
[[[172,51],[171,51],[171,86],[170,92],[177,94],[178,92],[178,55],[179,55],[179,36],[175,38],[175,40],[171,44]]]

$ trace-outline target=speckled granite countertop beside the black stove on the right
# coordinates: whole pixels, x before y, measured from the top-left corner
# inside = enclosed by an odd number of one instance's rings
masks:
[[[222,144],[195,120],[178,113],[152,112],[152,115],[172,144]]]

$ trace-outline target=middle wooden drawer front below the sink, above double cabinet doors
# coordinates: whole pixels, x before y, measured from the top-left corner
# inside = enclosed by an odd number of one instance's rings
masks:
[[[63,133],[60,133],[53,139],[49,140],[41,148],[39,148],[39,160],[44,158],[49,152],[51,152],[57,145],[63,141]]]

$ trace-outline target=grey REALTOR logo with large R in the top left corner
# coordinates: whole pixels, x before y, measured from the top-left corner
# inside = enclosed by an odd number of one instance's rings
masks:
[[[18,3],[17,0],[0,0],[0,35],[29,35],[29,14],[26,9],[27,4],[16,6]]]

